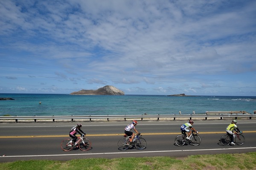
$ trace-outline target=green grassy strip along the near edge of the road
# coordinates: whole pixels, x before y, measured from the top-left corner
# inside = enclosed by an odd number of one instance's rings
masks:
[[[256,152],[195,155],[186,158],[30,160],[0,163],[0,170],[256,170]]]

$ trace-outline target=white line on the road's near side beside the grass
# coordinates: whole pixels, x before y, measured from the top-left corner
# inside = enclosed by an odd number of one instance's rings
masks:
[[[77,153],[77,154],[58,154],[58,155],[17,155],[17,156],[0,156],[0,158],[11,157],[40,157],[40,156],[81,156],[81,155],[106,155],[106,154],[134,154],[134,153],[163,153],[163,152],[194,152],[208,150],[238,150],[238,149],[256,149],[256,147],[240,147],[240,148],[221,148],[221,149],[198,149],[198,150],[160,150],[160,151],[140,151],[140,152],[109,152],[109,153]]]

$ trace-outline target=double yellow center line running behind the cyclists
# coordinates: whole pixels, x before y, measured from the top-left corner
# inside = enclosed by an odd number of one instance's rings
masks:
[[[198,134],[217,134],[217,133],[223,133],[225,132],[199,132]],[[243,133],[256,133],[256,130],[252,131],[243,131]],[[180,132],[174,132],[174,133],[142,133],[142,135],[178,135],[181,134]],[[122,134],[88,134],[86,136],[123,136]],[[70,137],[68,135],[37,135],[37,136],[0,136],[0,138],[53,138],[53,137]]]

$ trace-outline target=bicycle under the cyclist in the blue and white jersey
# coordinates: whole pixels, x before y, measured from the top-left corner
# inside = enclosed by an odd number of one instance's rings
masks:
[[[198,146],[201,143],[201,137],[198,135],[197,132],[192,130],[192,133],[189,136],[190,139],[186,139],[186,133],[185,132],[181,132],[181,133],[182,133],[182,135],[178,135],[175,138],[175,143],[178,146],[183,146],[185,143],[188,144],[189,142],[194,146]]]

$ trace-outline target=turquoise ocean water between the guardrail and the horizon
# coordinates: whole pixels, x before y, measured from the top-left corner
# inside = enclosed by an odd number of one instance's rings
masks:
[[[256,110],[256,96],[0,94],[0,116],[196,114]],[[41,105],[39,102],[41,101]]]

